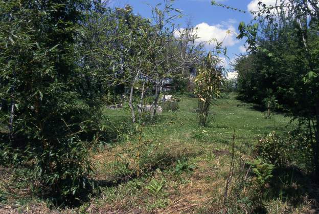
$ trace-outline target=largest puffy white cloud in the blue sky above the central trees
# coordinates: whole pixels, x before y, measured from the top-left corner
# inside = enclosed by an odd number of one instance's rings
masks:
[[[212,39],[216,39],[218,42],[223,41],[223,46],[234,46],[239,41],[236,39],[236,30],[234,26],[224,26],[224,25],[209,25],[207,23],[200,23],[195,26],[197,28],[197,42],[204,42],[207,46],[210,44]]]

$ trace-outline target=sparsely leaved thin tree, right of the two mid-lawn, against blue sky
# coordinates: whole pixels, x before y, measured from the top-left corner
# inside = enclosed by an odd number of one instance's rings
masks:
[[[151,119],[156,114],[159,95],[162,93],[166,81],[181,76],[185,68],[197,60],[200,46],[195,44],[196,29],[178,29],[173,24],[176,18],[181,17],[181,11],[173,8],[173,0],[164,1],[152,7],[154,32],[148,36],[149,62],[152,70],[147,77],[154,85],[154,100],[152,103]]]

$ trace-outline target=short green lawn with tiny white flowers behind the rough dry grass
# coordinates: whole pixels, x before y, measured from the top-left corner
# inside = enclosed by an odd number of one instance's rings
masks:
[[[276,131],[282,133],[289,130],[286,127],[290,118],[282,114],[274,114],[265,118],[264,112],[253,109],[252,104],[235,99],[236,94],[228,98],[218,99],[211,106],[210,120],[206,127],[200,127],[197,121],[196,98],[182,98],[179,102],[179,112],[168,112],[159,115],[155,125],[144,130],[145,140],[158,139],[170,141],[176,139],[184,142],[206,141],[216,145],[227,145],[235,132],[236,141],[250,147],[258,136]],[[125,110],[105,110],[105,115],[111,121],[130,121],[130,114]]]

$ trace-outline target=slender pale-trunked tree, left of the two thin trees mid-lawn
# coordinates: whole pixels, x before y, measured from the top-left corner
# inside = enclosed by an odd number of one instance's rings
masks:
[[[134,88],[136,83],[145,81],[145,74],[149,70],[148,53],[145,51],[148,47],[146,32],[151,33],[153,29],[147,19],[133,15],[132,8],[128,5],[125,9],[117,9],[117,16],[119,20],[117,39],[122,44],[117,50],[117,55],[120,56],[119,72],[123,74],[123,78],[116,81],[127,85],[129,89],[128,103],[134,123],[136,121],[136,105],[133,104]]]

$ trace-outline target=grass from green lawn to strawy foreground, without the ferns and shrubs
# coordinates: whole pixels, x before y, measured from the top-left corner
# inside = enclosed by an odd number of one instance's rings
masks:
[[[131,131],[123,133],[121,140],[113,142],[111,148],[93,154],[96,173],[92,178],[99,186],[89,202],[63,212],[214,213],[227,210],[227,213],[245,213],[247,207],[255,206],[248,199],[254,189],[252,186],[241,188],[240,198],[236,198],[238,183],[234,178],[230,194],[230,198],[234,198],[222,202],[232,158],[233,135],[237,172],[240,164],[251,158],[259,136],[271,131],[287,132],[293,124],[289,123],[290,118],[281,114],[266,119],[265,113],[256,111],[252,104],[241,102],[235,96],[229,94],[218,99],[211,107],[211,120],[206,127],[198,125],[196,99],[181,98],[178,112],[165,112],[155,123],[138,127],[140,134],[132,132],[128,110],[106,109],[104,113],[109,121],[122,128],[131,127]],[[249,179],[254,182],[253,177],[249,176]],[[0,212],[13,204],[18,205],[12,209],[20,211],[45,206],[30,192],[30,183],[19,187],[27,189],[29,198],[18,189],[10,192],[7,186],[16,181],[9,175],[7,180],[0,181],[0,204],[3,204]],[[20,203],[21,197],[24,199]],[[271,197],[262,203],[269,213],[313,210],[308,200],[292,205],[289,200]]]

